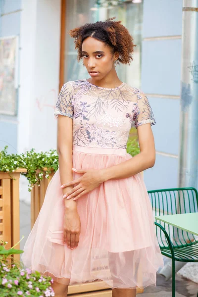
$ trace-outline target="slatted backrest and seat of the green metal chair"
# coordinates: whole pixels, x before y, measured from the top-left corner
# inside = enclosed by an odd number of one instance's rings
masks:
[[[174,188],[148,191],[154,215],[198,212],[198,191],[195,188]],[[157,221],[159,223],[159,221]],[[189,246],[198,240],[189,232],[160,222],[174,247]],[[163,232],[156,227],[160,247],[168,247]]]

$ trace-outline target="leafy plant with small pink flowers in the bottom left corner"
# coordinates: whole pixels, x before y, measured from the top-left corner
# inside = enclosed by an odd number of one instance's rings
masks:
[[[6,249],[6,244],[0,241],[0,297],[54,296],[51,277],[42,276],[38,271],[32,272],[28,268],[24,269],[22,264],[9,259],[10,255],[20,254],[23,250],[14,247]]]

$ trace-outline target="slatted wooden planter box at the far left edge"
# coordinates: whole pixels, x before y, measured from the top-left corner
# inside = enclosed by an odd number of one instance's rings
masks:
[[[9,173],[0,171],[0,240],[7,242],[8,248],[13,247],[20,240],[19,213],[19,178],[26,169],[17,169]],[[20,248],[18,244],[15,248]],[[16,260],[20,255],[14,255]]]

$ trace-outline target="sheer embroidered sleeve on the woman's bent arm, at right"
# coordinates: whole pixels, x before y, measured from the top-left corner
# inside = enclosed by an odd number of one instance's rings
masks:
[[[135,126],[138,128],[144,124],[150,123],[150,125],[155,125],[156,121],[154,118],[154,114],[152,112],[152,108],[148,101],[147,96],[144,93],[140,93],[137,96],[137,104],[138,104],[138,112],[136,112],[135,116]]]

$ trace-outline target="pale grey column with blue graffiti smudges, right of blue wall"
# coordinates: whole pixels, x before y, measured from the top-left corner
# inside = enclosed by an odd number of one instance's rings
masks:
[[[179,187],[198,188],[198,0],[183,1]]]

